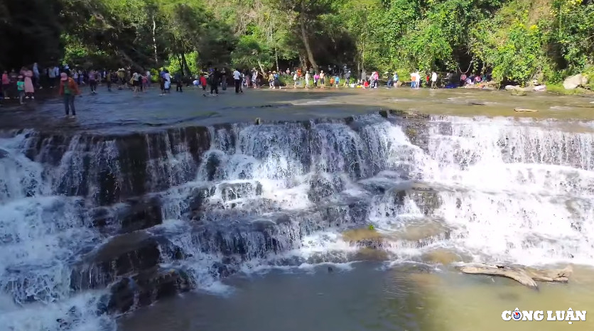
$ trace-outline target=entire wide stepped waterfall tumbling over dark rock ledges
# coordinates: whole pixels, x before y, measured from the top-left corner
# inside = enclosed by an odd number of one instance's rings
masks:
[[[365,115],[4,132],[0,325],[114,330],[114,315],[218,291],[233,273],[345,264],[366,249],[594,264],[592,127]]]

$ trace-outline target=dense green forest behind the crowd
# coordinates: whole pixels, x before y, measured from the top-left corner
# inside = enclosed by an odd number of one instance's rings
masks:
[[[594,64],[594,0],[1,1],[0,31],[4,69],[281,63],[524,83]]]

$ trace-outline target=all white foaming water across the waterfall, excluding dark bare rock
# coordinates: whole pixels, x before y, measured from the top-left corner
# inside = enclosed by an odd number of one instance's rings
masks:
[[[311,129],[301,124],[211,129],[212,146],[202,160],[216,158],[218,165],[202,162],[195,176],[188,175],[194,162],[188,146],[165,141],[163,156],[151,158],[148,165],[153,175],[149,186],[174,186],[161,193],[165,221],[148,232],[163,234],[183,250],[185,259],[168,261],[163,254],[163,266],[184,268],[203,291],[219,294],[231,293],[232,288],[220,282],[213,266],[228,263],[227,259],[233,259],[231,264],[244,273],[271,268],[313,271],[319,264],[348,270],[359,248],[345,242],[341,233],[352,222],[359,222],[357,227],[374,224],[377,232],[389,237],[426,218],[422,206],[409,195],[394,200],[394,192],[419,180],[438,191],[441,204],[432,216],[451,232],[449,237],[435,235],[423,245],[390,239],[387,250],[397,256],[392,263],[418,261],[426,251],[446,248],[475,261],[594,265],[590,244],[594,242],[593,134],[563,131],[556,121],[440,116],[427,123],[428,146],[423,149],[380,116],[356,121],[357,129],[341,123],[311,123]],[[594,127],[590,122],[576,125]],[[117,146],[104,141],[86,151],[83,137],[75,137],[60,165],[44,168],[23,155],[25,135],[0,139],[0,148],[8,152],[0,159],[0,173],[9,174],[0,179],[4,180],[0,183],[0,285],[13,286],[6,290],[8,298],[0,298],[0,325],[53,331],[59,327],[56,319],[68,317],[68,310],[76,307],[73,325],[79,329],[73,330],[109,330],[113,322],[96,314],[104,293],[72,296],[68,268],[81,246],[100,243],[102,237],[80,217],[87,202],[52,192],[60,185],[82,183],[81,173],[69,174],[83,167],[81,153],[109,156],[104,162],[118,174]],[[183,183],[187,178],[193,181]],[[308,196],[313,178],[325,180],[324,185],[340,185],[323,188],[337,191],[313,203]],[[96,183],[88,185],[87,190],[96,190]],[[232,198],[222,194],[224,188],[237,185],[253,188]],[[313,229],[301,229],[298,221],[289,219],[284,232],[268,234],[276,236],[275,245],[281,249],[267,251],[264,257],[255,247],[248,247],[249,259],[244,261],[239,254],[203,251],[200,245],[209,243],[196,242],[192,231],[198,222],[190,222],[186,215],[188,196],[197,188],[209,190],[204,208],[212,212],[212,219],[205,222],[215,226],[227,226],[217,222],[229,222],[229,227],[239,222],[245,222],[241,226],[276,222],[274,213],[285,212],[311,222]],[[379,193],[382,190],[385,193]],[[357,203],[369,205],[364,219],[349,214],[346,206]],[[330,216],[338,224],[325,219]],[[254,245],[263,238],[254,232],[238,239]],[[31,295],[41,302],[24,303]],[[15,299],[24,306],[14,305]],[[39,315],[36,310],[41,307]]]

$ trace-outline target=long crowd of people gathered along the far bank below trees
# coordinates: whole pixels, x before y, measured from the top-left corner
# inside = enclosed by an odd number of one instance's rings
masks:
[[[419,89],[421,84],[425,83],[426,87],[432,89],[438,88],[439,76],[437,72],[431,72],[423,75],[419,70],[411,72],[410,86],[413,89]],[[441,81],[442,87],[458,87],[463,85],[479,84],[482,81],[489,79],[488,75],[466,75],[462,73],[460,80],[456,82],[455,75],[448,72],[445,79]],[[184,85],[201,88],[206,92],[210,87],[210,94],[205,96],[217,96],[219,88],[227,89],[229,80],[234,82],[235,93],[243,93],[245,88],[259,89],[267,82],[269,89],[281,89],[285,87],[320,88],[326,87],[354,87],[362,89],[377,89],[380,80],[386,82],[387,88],[399,87],[406,84],[399,77],[398,72],[386,72],[384,77],[380,77],[379,72],[374,71],[371,75],[367,75],[362,71],[357,77],[353,75],[351,70],[344,67],[342,70],[338,67],[328,66],[328,70],[315,71],[313,68],[302,70],[300,67],[294,68],[291,71],[289,68],[284,72],[276,72],[274,70],[268,72],[261,72],[252,68],[252,70],[232,71],[232,75],[227,75],[225,69],[218,70],[217,67],[212,67],[208,70],[203,70],[194,77],[183,75],[182,72],[177,72],[173,76],[166,68],[158,71],[157,77],[153,77],[150,70],[134,70],[131,67],[118,70],[82,70],[80,68],[71,69],[68,65],[58,67],[53,65],[40,70],[37,63],[33,63],[31,67],[22,67],[20,71],[4,70],[1,77],[0,99],[18,99],[21,104],[25,103],[27,99],[35,99],[36,89],[43,89],[45,86],[49,89],[58,88],[58,94],[63,97],[65,115],[68,117],[76,116],[75,111],[75,96],[80,94],[80,86],[87,85],[91,94],[97,94],[97,87],[99,85],[107,85],[107,91],[111,92],[112,87],[117,89],[131,89],[134,95],[138,96],[142,92],[146,92],[151,87],[153,82],[158,82],[161,89],[161,96],[171,93],[171,85],[175,84],[176,92],[183,92]]]

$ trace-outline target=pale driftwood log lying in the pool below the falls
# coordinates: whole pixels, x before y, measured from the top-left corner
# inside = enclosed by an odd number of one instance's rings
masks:
[[[469,264],[460,266],[463,273],[475,273],[512,278],[522,285],[538,288],[536,281],[567,282],[573,272],[571,266],[563,269],[540,270],[526,266],[495,266],[490,264]]]

